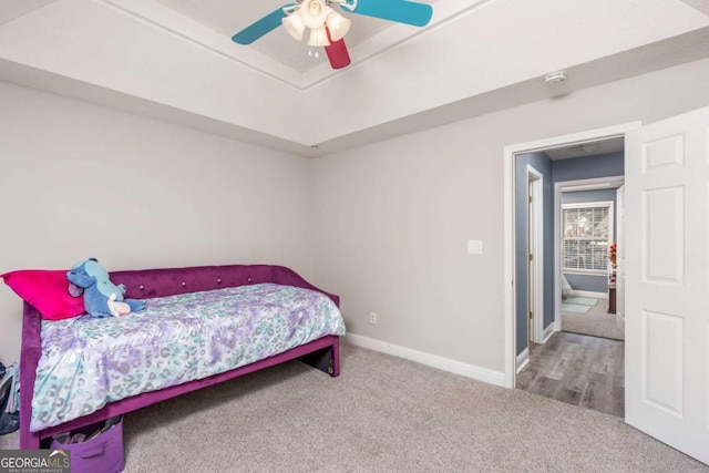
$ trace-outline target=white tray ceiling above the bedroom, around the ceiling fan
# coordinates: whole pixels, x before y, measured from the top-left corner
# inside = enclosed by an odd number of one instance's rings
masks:
[[[0,80],[315,156],[709,58],[707,0],[445,0],[422,29],[350,14],[332,71],[230,40],[275,6],[3,0]]]

